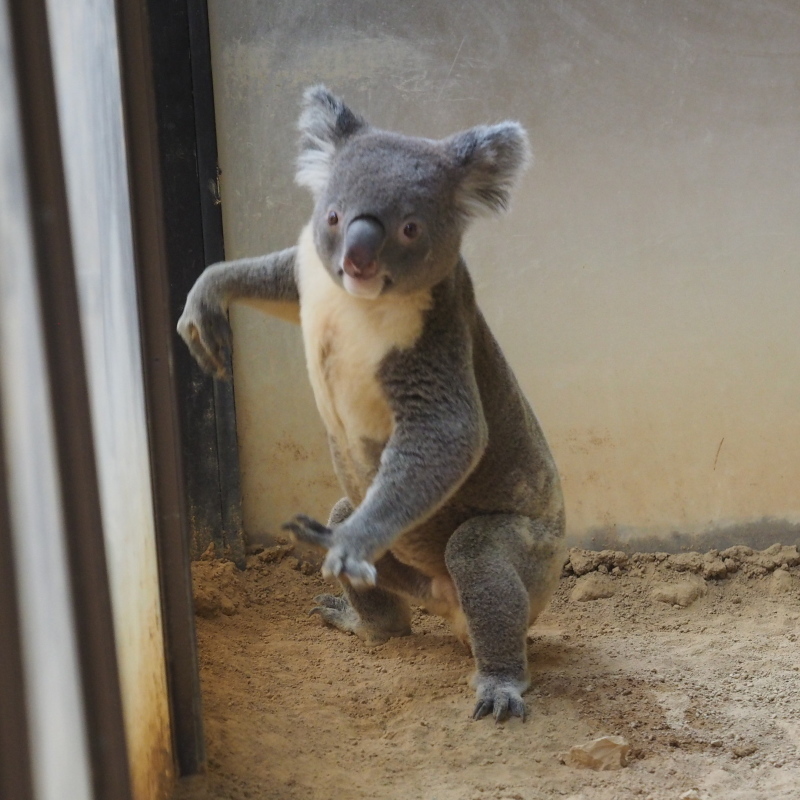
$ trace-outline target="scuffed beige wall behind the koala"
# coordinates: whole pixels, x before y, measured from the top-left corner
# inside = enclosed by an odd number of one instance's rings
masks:
[[[555,452],[573,538],[798,539],[794,0],[210,11],[228,257],[291,244],[310,213],[292,184],[310,83],[407,133],[517,118],[534,167],[465,252]],[[245,308],[233,321],[258,536],[324,516],[338,493],[298,330]]]

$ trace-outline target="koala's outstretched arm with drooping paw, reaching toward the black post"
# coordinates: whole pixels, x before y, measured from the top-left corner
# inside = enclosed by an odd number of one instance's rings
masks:
[[[203,370],[230,378],[231,328],[228,306],[236,299],[299,302],[295,280],[297,248],[257,258],[212,264],[189,292],[178,333]]]

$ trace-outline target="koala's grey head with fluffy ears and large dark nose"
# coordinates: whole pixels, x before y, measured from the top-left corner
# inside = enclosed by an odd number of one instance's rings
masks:
[[[516,122],[432,140],[371,127],[325,87],[308,89],[297,182],[316,201],[314,242],[358,297],[429,289],[456,266],[470,219],[508,205],[530,151]]]

